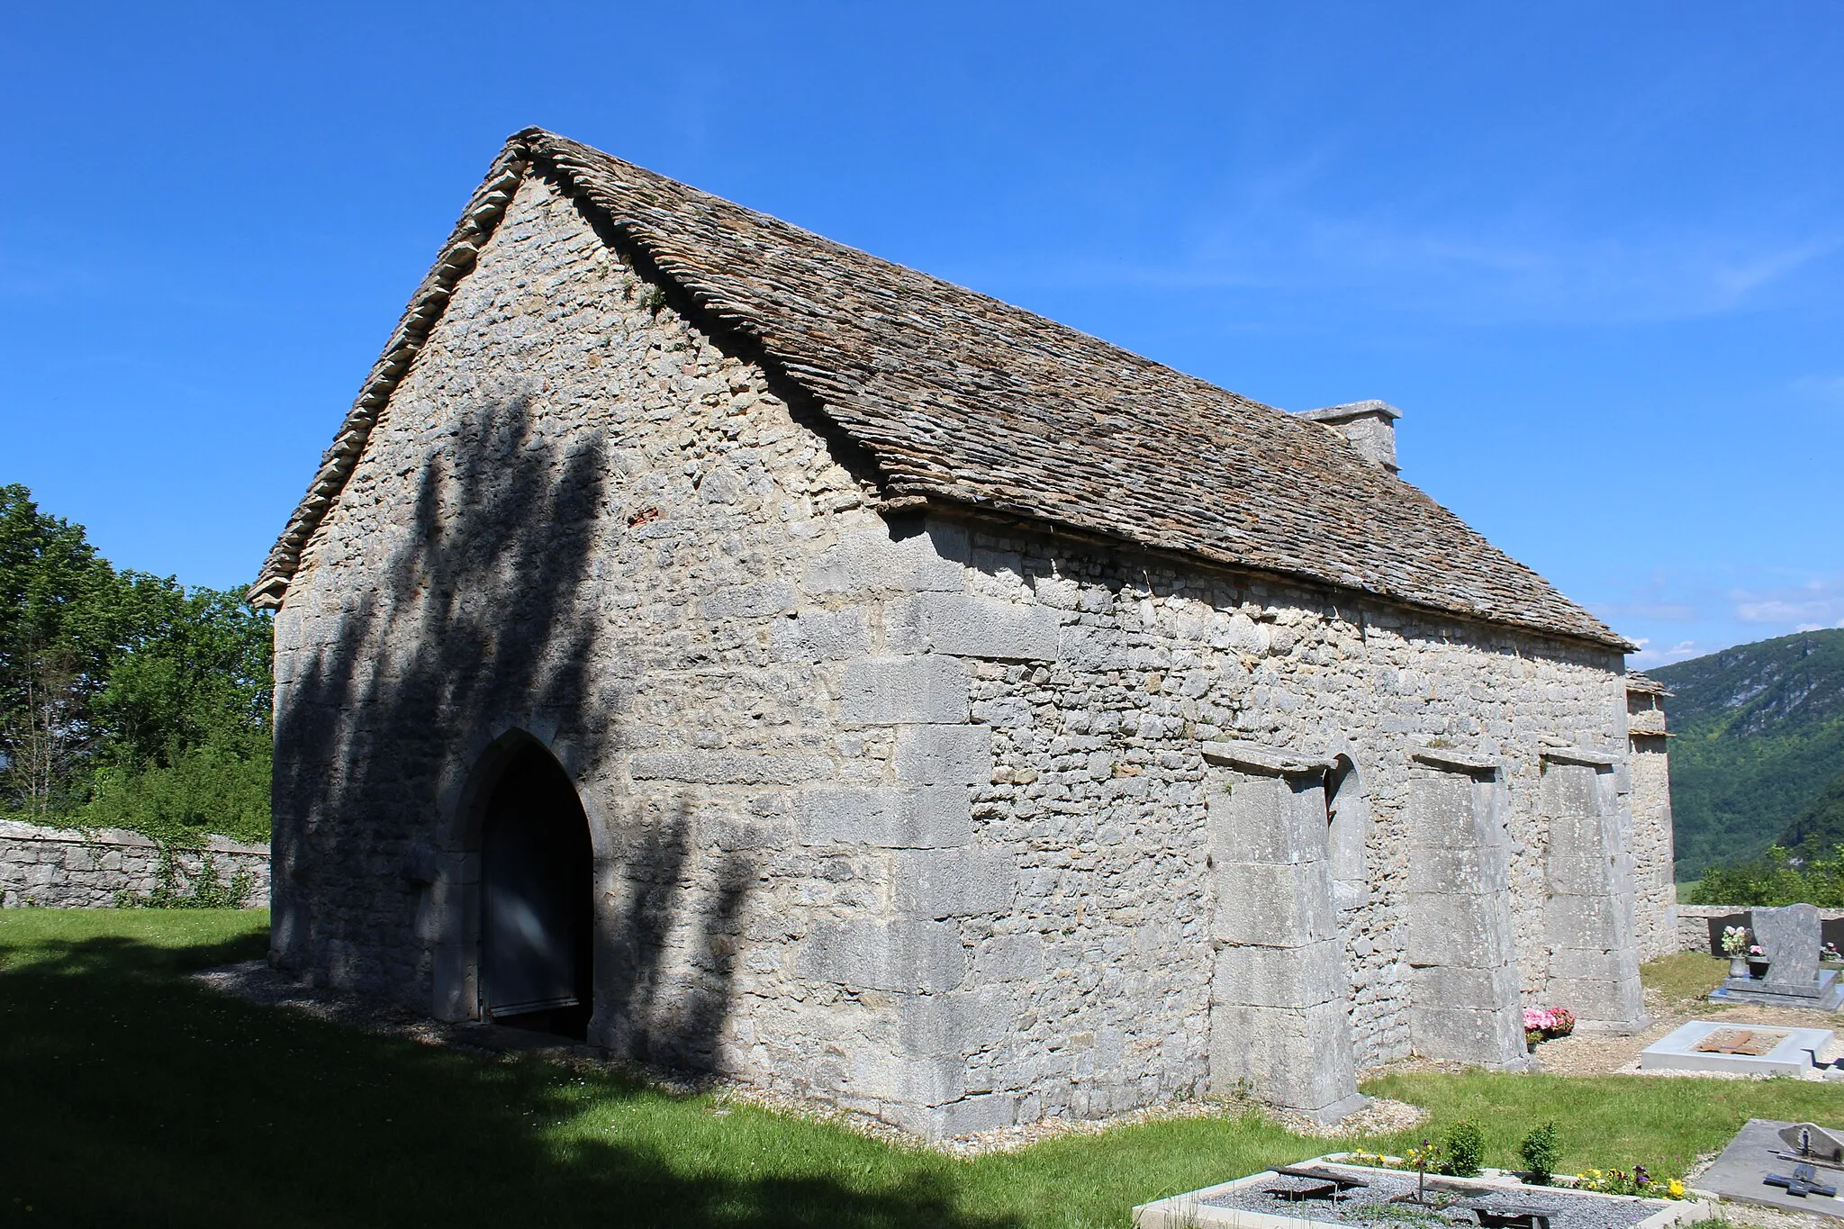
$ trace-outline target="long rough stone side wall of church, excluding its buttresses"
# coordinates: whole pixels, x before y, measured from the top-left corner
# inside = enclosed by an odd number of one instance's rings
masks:
[[[974,719],[994,741],[975,818],[983,840],[1016,851],[1022,888],[992,936],[1046,969],[1016,988],[1020,1034],[975,1059],[1016,1065],[981,1083],[1012,1083],[1025,1113],[1038,1096],[1046,1109],[1106,1113],[1195,1091],[1212,892],[1210,770],[1199,748],[1217,739],[1355,763],[1372,813],[1370,897],[1341,912],[1341,938],[1361,1067],[1409,1048],[1401,888],[1416,744],[1464,746],[1499,765],[1523,991],[1540,997],[1573,973],[1551,966],[1560,943],[1545,925],[1538,783],[1545,741],[1623,759],[1614,654],[1151,560],[1134,568],[1036,536],[975,534],[970,549],[963,601],[996,604],[988,621],[1011,610],[1025,623],[1044,608],[1058,619],[1055,660],[975,667]],[[953,601],[924,595],[909,606]],[[928,647],[952,652],[953,641]]]

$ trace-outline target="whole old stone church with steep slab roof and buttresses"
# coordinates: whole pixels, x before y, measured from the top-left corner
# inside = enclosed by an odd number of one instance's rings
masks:
[[[273,962],[929,1137],[1636,1028],[1658,689],[1396,416],[520,133],[251,591]]]

